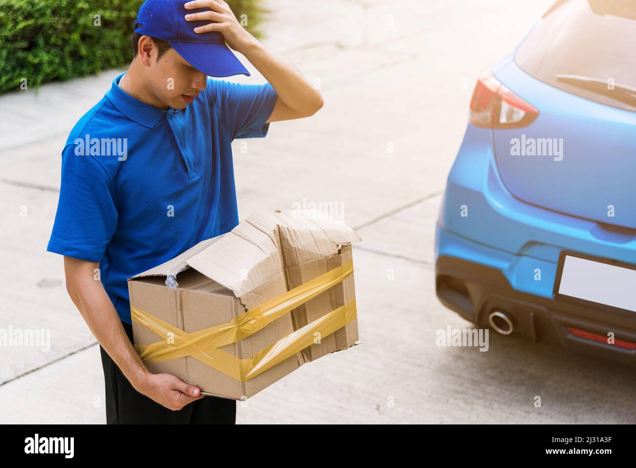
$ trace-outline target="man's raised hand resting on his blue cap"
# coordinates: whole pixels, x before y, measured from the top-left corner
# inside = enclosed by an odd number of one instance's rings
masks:
[[[195,27],[197,34],[202,32],[218,31],[223,34],[228,46],[237,52],[242,52],[244,48],[254,43],[256,39],[239,24],[232,9],[224,0],[193,0],[186,3],[186,10],[196,10],[197,8],[209,8],[209,11],[186,14],[188,21],[210,20],[212,23],[205,26]]]

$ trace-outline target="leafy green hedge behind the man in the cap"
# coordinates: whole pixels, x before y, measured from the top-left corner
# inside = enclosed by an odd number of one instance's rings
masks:
[[[0,0],[0,93],[64,81],[132,60],[132,23],[142,0]],[[258,0],[228,0],[258,36]],[[100,26],[95,26],[100,15]]]

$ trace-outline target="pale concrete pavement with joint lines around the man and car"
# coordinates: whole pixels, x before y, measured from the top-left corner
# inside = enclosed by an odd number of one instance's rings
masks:
[[[364,343],[238,403],[237,422],[633,422],[632,369],[494,334],[488,352],[435,343],[437,329],[471,327],[435,298],[433,232],[476,76],[550,3],[266,1],[263,42],[321,86],[325,106],[235,142],[239,214],[342,204],[363,238]],[[52,340],[48,352],[0,348],[0,422],[105,422],[99,347],[45,249],[62,146],[117,72],[0,97],[0,327],[50,329]]]

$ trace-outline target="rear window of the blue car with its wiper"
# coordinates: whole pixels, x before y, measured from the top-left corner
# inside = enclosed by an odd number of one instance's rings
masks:
[[[523,41],[515,62],[563,91],[635,111],[636,1],[557,1]]]

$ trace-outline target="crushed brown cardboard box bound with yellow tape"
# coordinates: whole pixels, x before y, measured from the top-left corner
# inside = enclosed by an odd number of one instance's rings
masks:
[[[316,210],[254,214],[128,279],[135,349],[153,373],[247,399],[358,343],[360,240]]]

